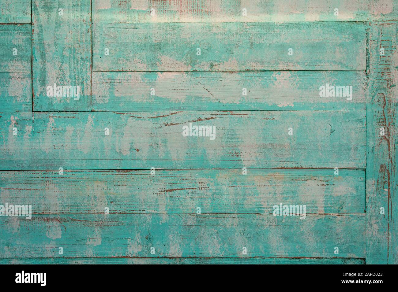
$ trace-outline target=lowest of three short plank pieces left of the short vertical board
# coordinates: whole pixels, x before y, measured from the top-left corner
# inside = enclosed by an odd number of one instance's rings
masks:
[[[0,72],[0,101],[0,112],[31,112],[31,73]]]

